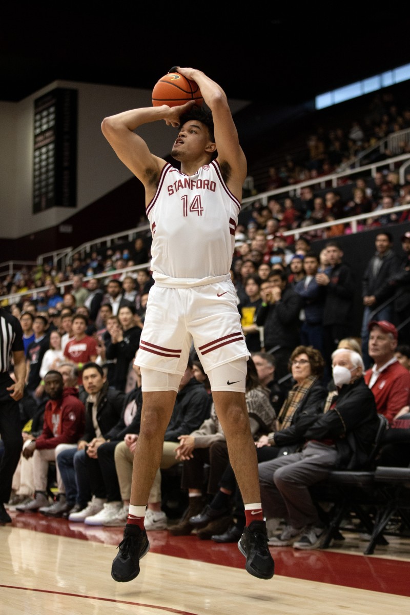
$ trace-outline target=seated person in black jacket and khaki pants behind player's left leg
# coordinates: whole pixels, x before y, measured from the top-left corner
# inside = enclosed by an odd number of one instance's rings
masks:
[[[165,530],[167,528],[167,516],[161,510],[160,470],[168,469],[179,463],[179,459],[175,457],[179,437],[198,429],[200,424],[208,418],[210,415],[210,400],[210,395],[205,391],[203,384],[194,378],[192,360],[189,359],[176,394],[170,423],[165,431],[160,469],[157,471],[149,494],[148,510],[144,522],[146,530]],[[138,434],[127,434],[124,442],[117,444],[115,450],[117,475],[124,503],[124,524],[127,522],[126,513],[128,513],[131,497],[133,456],[137,440]]]

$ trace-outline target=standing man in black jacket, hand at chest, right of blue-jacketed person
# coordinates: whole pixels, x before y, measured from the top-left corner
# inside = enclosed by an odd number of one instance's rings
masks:
[[[317,273],[317,284],[326,287],[323,314],[323,358],[325,380],[331,378],[331,355],[339,341],[350,334],[350,317],[355,292],[352,271],[342,263],[343,252],[334,241],[326,243],[326,257],[331,267],[328,272]]]

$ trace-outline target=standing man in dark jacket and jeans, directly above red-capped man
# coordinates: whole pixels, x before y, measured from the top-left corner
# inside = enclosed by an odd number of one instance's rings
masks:
[[[361,280],[361,295],[365,306],[361,321],[361,350],[366,369],[371,365],[368,355],[368,324],[373,316],[376,317],[376,320],[392,322],[392,303],[382,306],[384,300],[383,296],[380,295],[380,290],[384,287],[385,282],[398,271],[400,266],[400,260],[392,249],[393,237],[389,232],[378,232],[375,245],[376,253],[369,260]]]

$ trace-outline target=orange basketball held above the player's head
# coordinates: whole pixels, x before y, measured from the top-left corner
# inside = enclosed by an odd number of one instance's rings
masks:
[[[202,106],[203,98],[195,81],[179,73],[168,73],[161,77],[152,90],[152,105],[175,107],[194,100],[195,105]]]

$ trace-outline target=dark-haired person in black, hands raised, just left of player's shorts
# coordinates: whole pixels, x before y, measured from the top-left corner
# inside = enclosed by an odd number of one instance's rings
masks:
[[[128,371],[132,368],[132,361],[140,346],[141,328],[135,324],[135,314],[136,309],[132,304],[119,308],[119,326],[113,325],[105,346],[106,359],[116,359],[114,376],[109,383],[118,391],[125,391]]]

